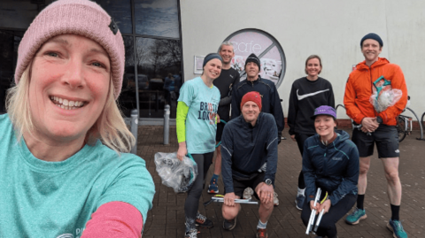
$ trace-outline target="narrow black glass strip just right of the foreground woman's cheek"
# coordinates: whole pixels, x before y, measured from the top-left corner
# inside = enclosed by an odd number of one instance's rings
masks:
[[[123,40],[126,49],[126,65],[118,100],[121,111],[126,117],[130,117],[131,110],[137,108],[137,100],[135,100],[135,50],[133,36],[123,36]]]

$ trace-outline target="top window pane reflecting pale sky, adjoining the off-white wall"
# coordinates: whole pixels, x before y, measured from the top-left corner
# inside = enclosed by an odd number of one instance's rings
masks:
[[[135,33],[179,38],[177,0],[135,0]]]

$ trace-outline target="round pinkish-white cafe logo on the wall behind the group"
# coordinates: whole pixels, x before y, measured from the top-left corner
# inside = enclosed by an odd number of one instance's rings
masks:
[[[241,74],[241,81],[246,78],[245,60],[254,53],[260,60],[261,78],[273,81],[276,88],[281,85],[286,62],[282,47],[273,36],[257,29],[243,29],[228,36],[226,41],[233,43],[235,58],[231,65]]]

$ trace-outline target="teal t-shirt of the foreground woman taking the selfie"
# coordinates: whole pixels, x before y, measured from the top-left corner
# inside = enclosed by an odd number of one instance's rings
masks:
[[[17,141],[7,114],[0,115],[0,138],[0,237],[77,238],[90,215],[112,201],[132,204],[145,223],[155,187],[141,157],[119,157],[97,141],[46,162]]]

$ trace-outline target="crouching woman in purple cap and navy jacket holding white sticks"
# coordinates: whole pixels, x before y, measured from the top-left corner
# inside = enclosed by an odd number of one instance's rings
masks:
[[[317,231],[322,237],[336,237],[336,222],[352,209],[357,199],[359,180],[359,151],[349,140],[349,134],[335,131],[336,111],[330,106],[315,109],[315,135],[305,141],[303,152],[303,173],[305,196],[301,219],[308,224],[313,209],[324,210]],[[322,196],[328,192],[328,198],[314,207],[317,188]]]

